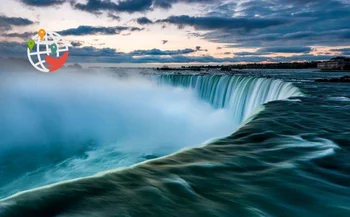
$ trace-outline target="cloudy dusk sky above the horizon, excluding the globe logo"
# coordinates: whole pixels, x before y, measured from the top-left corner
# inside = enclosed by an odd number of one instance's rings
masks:
[[[6,0],[0,57],[41,28],[79,63],[317,61],[350,55],[350,0]]]

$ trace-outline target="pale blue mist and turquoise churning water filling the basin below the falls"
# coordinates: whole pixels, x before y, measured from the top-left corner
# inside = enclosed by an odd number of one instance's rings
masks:
[[[6,177],[0,197],[130,166],[232,131],[227,110],[215,110],[190,89],[137,76],[3,74],[0,102]]]

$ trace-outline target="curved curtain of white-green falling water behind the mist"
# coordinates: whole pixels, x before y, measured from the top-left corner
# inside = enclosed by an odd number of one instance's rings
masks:
[[[192,88],[217,109],[226,108],[234,125],[245,121],[264,103],[303,96],[292,83],[282,80],[228,75],[161,75],[159,84]]]

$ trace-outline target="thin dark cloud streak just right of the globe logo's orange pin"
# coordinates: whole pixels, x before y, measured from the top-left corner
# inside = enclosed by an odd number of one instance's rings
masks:
[[[61,35],[115,35],[120,34],[123,31],[141,31],[142,29],[137,27],[126,26],[114,26],[114,27],[102,27],[102,26],[79,26],[78,28],[67,29],[58,32]]]

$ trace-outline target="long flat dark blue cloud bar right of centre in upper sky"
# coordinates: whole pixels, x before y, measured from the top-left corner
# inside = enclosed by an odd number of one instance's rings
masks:
[[[232,29],[263,29],[286,23],[285,19],[268,18],[226,18],[226,17],[190,17],[187,15],[171,16],[167,19],[158,20],[158,23],[169,23],[179,28],[192,26],[199,30],[232,30]]]

